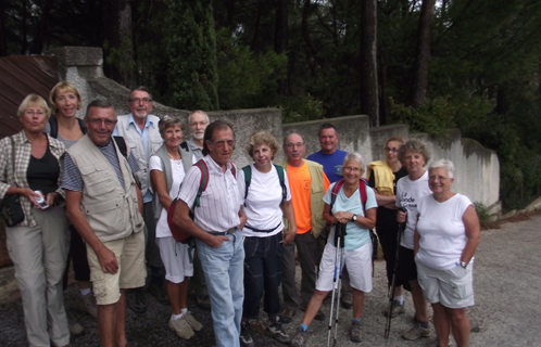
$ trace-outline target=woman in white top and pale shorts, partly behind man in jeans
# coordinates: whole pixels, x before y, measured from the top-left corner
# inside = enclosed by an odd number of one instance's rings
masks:
[[[188,311],[189,278],[193,275],[188,245],[176,242],[167,224],[167,209],[180,191],[186,172],[194,163],[190,152],[180,147],[184,125],[177,117],[164,116],[159,123],[163,145],[149,159],[150,178],[154,189],[156,244],[165,267],[167,296],[173,314],[168,326],[181,338],[190,338],[202,325]]]

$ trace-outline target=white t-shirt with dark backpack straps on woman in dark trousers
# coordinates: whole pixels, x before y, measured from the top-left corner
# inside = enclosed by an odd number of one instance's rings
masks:
[[[246,198],[244,214],[247,215],[247,223],[242,233],[250,237],[267,237],[282,231],[282,213],[280,204],[282,200],[280,179],[276,167],[273,165],[270,171],[261,172],[253,164],[252,179],[248,188],[248,196]],[[286,171],[284,171],[284,183],[286,184],[287,196],[286,201],[291,201],[291,191]],[[241,196],[241,203],[244,204],[246,182],[244,171],[239,170],[237,174],[237,187]],[[257,230],[272,230],[272,232],[257,232]],[[276,229],[275,229],[276,228]]]

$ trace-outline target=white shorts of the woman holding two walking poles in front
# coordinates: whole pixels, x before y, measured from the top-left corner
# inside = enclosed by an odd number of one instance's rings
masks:
[[[320,292],[332,291],[336,249],[329,242],[325,245],[316,282],[316,290]],[[344,249],[342,267],[344,264],[350,273],[351,286],[361,292],[372,292],[372,242],[357,249]],[[338,259],[338,265],[340,265],[340,258]],[[338,273],[335,283],[335,285],[338,285]]]

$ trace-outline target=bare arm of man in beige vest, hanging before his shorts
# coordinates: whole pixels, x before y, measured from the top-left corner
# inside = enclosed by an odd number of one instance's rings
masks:
[[[98,256],[101,269],[103,272],[116,273],[118,271],[118,264],[116,262],[115,254],[105,247],[103,243],[96,236],[88,220],[80,210],[80,201],[83,198],[81,192],[66,190],[66,215],[83,240],[92,247]],[[141,200],[142,201],[142,200]]]

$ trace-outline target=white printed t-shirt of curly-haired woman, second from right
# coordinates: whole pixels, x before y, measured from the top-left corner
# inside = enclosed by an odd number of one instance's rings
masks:
[[[413,235],[417,224],[417,204],[419,198],[431,193],[430,188],[428,188],[428,170],[415,181],[405,176],[397,182],[397,207],[407,209],[406,229],[400,240],[402,247],[413,249]]]

